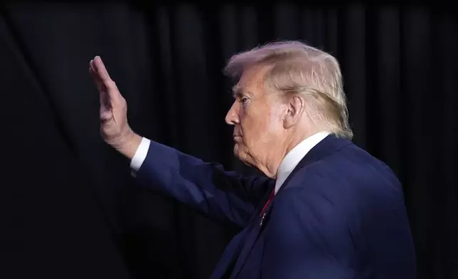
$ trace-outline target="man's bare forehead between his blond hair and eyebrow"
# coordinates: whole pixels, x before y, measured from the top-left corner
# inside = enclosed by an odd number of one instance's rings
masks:
[[[235,96],[250,94],[259,95],[264,92],[264,77],[267,73],[266,66],[253,66],[244,70],[238,83],[233,87]]]

